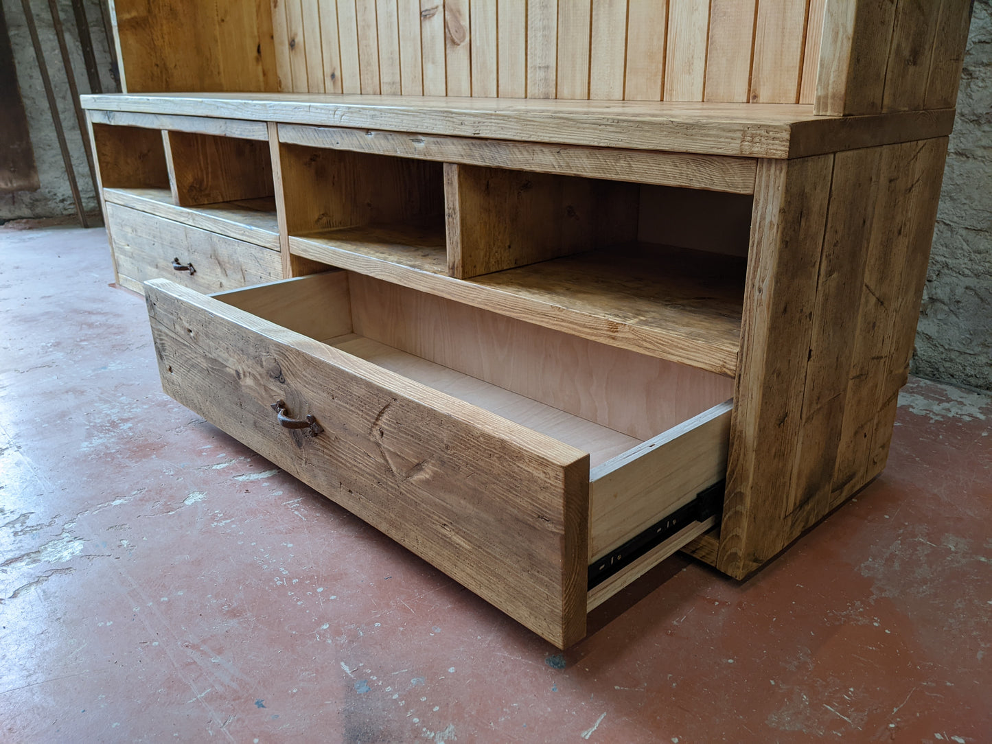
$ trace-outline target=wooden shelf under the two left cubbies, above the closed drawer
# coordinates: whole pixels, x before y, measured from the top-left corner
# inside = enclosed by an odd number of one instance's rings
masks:
[[[272,197],[179,206],[169,188],[105,188],[103,198],[201,230],[280,250],[276,201]]]

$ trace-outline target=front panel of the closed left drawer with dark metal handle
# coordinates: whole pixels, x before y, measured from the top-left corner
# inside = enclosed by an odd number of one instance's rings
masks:
[[[276,251],[120,204],[107,202],[106,208],[122,284],[125,278],[136,283],[166,278],[198,292],[219,292],[283,276]],[[176,271],[173,259],[192,264],[194,271]]]

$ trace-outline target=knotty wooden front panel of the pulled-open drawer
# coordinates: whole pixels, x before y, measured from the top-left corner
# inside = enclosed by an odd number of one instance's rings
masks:
[[[588,455],[176,283],[146,296],[166,393],[558,647],[584,635]]]

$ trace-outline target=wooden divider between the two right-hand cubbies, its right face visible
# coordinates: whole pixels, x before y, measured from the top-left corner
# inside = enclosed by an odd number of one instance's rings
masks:
[[[448,273],[458,279],[637,238],[632,184],[446,163],[444,196]]]

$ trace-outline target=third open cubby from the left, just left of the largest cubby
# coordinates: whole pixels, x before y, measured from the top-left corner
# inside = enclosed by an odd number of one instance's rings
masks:
[[[280,145],[294,253],[376,273],[447,272],[440,163]]]

